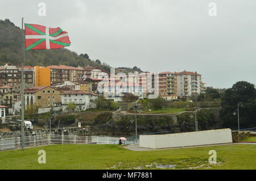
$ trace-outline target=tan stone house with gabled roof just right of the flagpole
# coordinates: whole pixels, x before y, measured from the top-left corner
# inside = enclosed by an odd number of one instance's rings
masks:
[[[25,108],[36,104],[40,108],[60,106],[60,91],[51,86],[30,87],[24,91]]]

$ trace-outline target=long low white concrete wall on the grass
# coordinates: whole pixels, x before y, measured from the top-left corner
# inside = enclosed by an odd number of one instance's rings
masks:
[[[230,142],[232,142],[231,129],[139,136],[139,146],[154,149]]]

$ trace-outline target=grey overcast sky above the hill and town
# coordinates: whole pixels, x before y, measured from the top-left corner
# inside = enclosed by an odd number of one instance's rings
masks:
[[[38,3],[46,3],[46,16]],[[217,16],[209,16],[209,3]],[[0,0],[0,19],[68,31],[71,49],[118,67],[197,71],[207,86],[256,84],[254,0]]]

